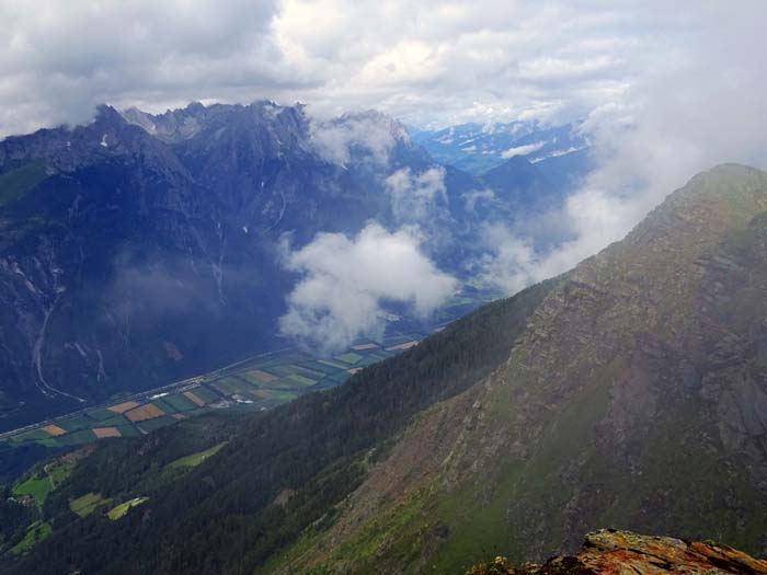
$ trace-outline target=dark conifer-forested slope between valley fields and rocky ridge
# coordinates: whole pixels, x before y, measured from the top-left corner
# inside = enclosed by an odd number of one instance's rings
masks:
[[[333,525],[335,505],[365,480],[414,416],[461,396],[504,360],[557,281],[489,304],[340,388],[251,418],[236,434],[217,432],[191,446],[186,434],[202,423],[190,421],[101,447],[46,501],[49,539],[7,568],[270,572],[265,562],[307,529]],[[197,467],[167,469],[179,457],[222,441],[228,442]],[[89,493],[114,502],[149,499],[118,521],[95,513],[78,518],[70,501]]]

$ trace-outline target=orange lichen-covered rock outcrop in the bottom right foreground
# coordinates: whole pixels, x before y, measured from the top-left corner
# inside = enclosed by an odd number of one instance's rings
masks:
[[[581,552],[559,556],[542,565],[506,566],[505,557],[477,565],[467,575],[656,575],[662,573],[758,575],[767,561],[716,543],[690,542],[671,537],[649,537],[630,531],[603,530],[586,534]]]

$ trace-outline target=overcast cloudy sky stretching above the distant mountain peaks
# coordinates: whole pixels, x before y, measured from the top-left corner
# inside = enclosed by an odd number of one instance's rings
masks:
[[[673,4],[673,5],[668,5]],[[3,0],[0,136],[197,100],[376,107],[409,123],[585,117],[767,2]],[[721,62],[720,62],[721,64]],[[711,76],[726,73],[711,68]]]

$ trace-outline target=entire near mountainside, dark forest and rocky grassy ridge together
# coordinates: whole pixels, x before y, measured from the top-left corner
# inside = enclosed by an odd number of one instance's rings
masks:
[[[339,388],[59,462],[38,510],[2,504],[7,570],[458,573],[598,527],[762,554],[765,245],[767,173],[698,174],[571,272]]]

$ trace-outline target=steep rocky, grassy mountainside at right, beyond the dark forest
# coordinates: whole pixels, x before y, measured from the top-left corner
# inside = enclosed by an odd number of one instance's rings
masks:
[[[540,560],[602,526],[763,551],[765,210],[763,172],[696,176],[569,274],[504,367],[415,422],[282,572]]]

